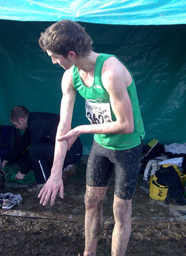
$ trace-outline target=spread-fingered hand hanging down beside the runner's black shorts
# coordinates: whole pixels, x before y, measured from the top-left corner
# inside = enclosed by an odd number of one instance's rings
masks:
[[[60,192],[60,198],[64,198],[64,182],[62,181],[61,177],[52,177],[50,176],[48,181],[46,182],[45,186],[43,186],[42,190],[40,191],[38,198],[41,198],[40,203],[45,206],[50,199],[50,206],[54,205],[56,200],[56,195]]]

